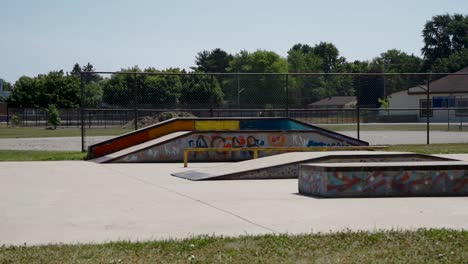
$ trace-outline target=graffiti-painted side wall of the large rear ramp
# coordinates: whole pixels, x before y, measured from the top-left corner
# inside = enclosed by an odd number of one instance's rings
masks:
[[[135,153],[131,153],[115,162],[172,162],[183,161],[183,150],[186,148],[242,148],[242,147],[307,147],[310,142],[317,146],[349,145],[346,142],[317,133],[302,132],[193,132],[176,140],[160,143]],[[279,152],[261,151],[260,157],[278,154]],[[252,151],[208,151],[192,152],[191,161],[240,161],[251,159]]]

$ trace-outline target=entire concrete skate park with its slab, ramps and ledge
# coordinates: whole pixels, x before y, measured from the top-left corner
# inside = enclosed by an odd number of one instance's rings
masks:
[[[86,161],[3,163],[2,243],[468,228],[467,155],[385,149],[289,118],[171,119]]]

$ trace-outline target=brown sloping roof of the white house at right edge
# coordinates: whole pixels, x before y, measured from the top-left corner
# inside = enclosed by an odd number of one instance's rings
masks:
[[[448,75],[429,83],[431,93],[468,93],[468,67],[456,73],[467,75]],[[426,93],[426,85],[408,89],[408,94]]]

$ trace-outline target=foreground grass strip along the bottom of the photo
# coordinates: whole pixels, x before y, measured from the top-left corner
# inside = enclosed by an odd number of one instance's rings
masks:
[[[467,260],[468,232],[444,229],[0,247],[0,263],[467,263]]]

